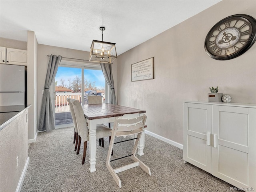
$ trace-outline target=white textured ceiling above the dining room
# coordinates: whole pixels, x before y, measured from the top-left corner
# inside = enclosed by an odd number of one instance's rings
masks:
[[[117,54],[145,42],[221,0],[0,0],[0,37],[90,51],[92,40]]]

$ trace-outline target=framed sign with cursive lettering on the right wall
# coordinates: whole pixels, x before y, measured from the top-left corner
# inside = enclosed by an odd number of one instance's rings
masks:
[[[154,79],[154,57],[132,64],[132,82]]]

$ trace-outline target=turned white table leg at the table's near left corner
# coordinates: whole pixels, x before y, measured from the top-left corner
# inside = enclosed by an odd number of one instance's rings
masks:
[[[90,172],[96,171],[96,127],[97,124],[94,123],[93,120],[88,121],[88,128],[89,128],[89,152],[90,152]]]

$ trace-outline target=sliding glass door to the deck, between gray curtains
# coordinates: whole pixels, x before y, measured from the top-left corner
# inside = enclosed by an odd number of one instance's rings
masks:
[[[55,128],[72,126],[72,116],[67,98],[87,104],[88,92],[105,100],[105,78],[99,65],[64,61],[60,63],[55,77]],[[90,94],[89,94],[90,95]]]

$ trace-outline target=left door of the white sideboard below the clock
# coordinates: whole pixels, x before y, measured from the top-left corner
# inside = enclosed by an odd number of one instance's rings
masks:
[[[185,161],[212,172],[212,106],[184,103],[184,145]]]

